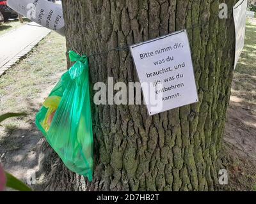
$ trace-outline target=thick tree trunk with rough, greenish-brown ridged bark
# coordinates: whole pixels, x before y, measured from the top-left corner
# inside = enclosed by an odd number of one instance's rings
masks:
[[[88,183],[59,162],[49,189],[207,191],[218,184],[234,64],[234,20],[223,1],[63,0],[67,50],[94,54],[188,28],[200,102],[149,117],[143,105],[92,103],[95,171]],[[236,0],[226,1],[232,10]],[[191,29],[193,27],[193,29]],[[95,82],[138,82],[129,51],[90,57]],[[95,92],[92,90],[92,98]],[[65,176],[67,175],[67,176]],[[59,185],[58,181],[61,182]],[[55,186],[55,187],[54,187]]]

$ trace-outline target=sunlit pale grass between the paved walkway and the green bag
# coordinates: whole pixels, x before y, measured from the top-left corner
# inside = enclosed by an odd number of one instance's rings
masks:
[[[38,98],[42,98],[42,92],[58,82],[61,73],[67,69],[65,52],[65,38],[52,32],[0,77],[0,115],[29,113],[22,119],[5,120],[0,125],[0,135],[1,129],[10,133],[35,117],[35,108],[40,107],[41,99]]]

